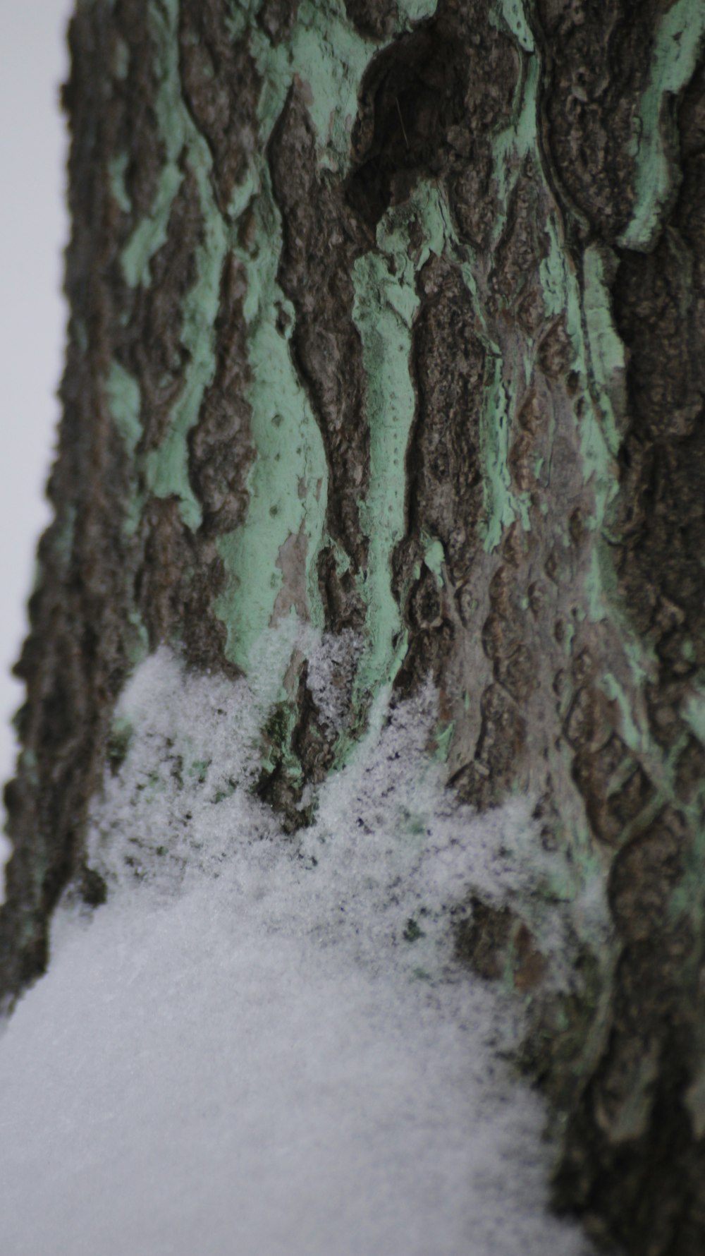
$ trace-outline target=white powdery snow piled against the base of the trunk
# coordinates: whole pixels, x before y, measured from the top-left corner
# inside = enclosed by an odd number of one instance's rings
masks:
[[[90,839],[108,903],[66,901],[0,1040],[0,1251],[587,1256],[546,1208],[509,1011],[453,958],[469,888],[526,875],[526,814],[450,806],[429,692],[390,722],[380,700],[287,836],[251,793],[275,698],[166,651],[123,698]]]

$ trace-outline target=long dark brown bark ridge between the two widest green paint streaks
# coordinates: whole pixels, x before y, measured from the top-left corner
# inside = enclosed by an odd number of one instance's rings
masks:
[[[346,211],[342,188],[319,175],[304,90],[294,84],[268,144],[272,190],[282,216],[277,280],[296,310],[291,352],[311,398],[329,467],[326,528],[350,559],[352,577],[366,563],[359,500],[369,487],[369,430],[360,335],[352,322],[352,264],[364,240]],[[330,551],[320,559],[321,595],[331,631],[359,628],[364,607],[352,580],[336,575]]]

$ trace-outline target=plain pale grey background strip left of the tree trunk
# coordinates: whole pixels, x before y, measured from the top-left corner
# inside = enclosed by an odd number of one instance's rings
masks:
[[[34,549],[49,519],[44,484],[59,417],[55,389],[65,310],[60,298],[64,31],[72,0],[0,0],[0,776],[13,770],[9,721],[23,688],[9,676],[25,633]]]

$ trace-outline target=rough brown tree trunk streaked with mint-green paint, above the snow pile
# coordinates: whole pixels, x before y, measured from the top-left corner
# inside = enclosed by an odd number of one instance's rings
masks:
[[[78,0],[6,791],[11,1000],[66,884],[104,892],[87,809],[147,652],[236,677],[287,617],[337,638],[335,730],[301,651],[262,728],[291,830],[430,676],[449,789],[536,805],[571,980],[531,899],[458,947],[531,1002],[558,1206],[639,1256],[705,1250],[704,31],[701,0]]]

